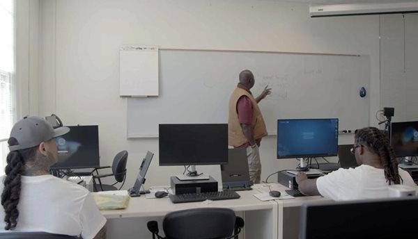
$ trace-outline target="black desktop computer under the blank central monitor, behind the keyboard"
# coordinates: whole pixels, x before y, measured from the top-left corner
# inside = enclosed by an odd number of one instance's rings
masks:
[[[179,180],[176,176],[171,176],[171,190],[173,194],[180,195],[185,193],[217,192],[217,181],[209,176],[206,180]]]

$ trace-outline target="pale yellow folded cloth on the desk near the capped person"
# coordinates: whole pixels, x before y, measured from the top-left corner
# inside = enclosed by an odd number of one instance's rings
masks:
[[[127,193],[118,192],[120,191],[93,192],[93,198],[99,210],[127,208],[127,204],[129,204],[130,199],[129,195],[127,195]]]

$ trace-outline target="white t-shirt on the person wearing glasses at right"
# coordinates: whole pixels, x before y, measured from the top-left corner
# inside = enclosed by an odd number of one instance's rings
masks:
[[[403,185],[417,188],[408,172],[401,168],[398,168],[398,172]],[[385,178],[385,170],[370,165],[340,168],[316,179],[316,187],[320,195],[335,201],[389,197],[389,183]]]

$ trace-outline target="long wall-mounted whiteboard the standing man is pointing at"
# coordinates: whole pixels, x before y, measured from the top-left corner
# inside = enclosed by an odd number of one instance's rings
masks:
[[[226,123],[242,69],[254,73],[254,96],[269,134],[277,119],[339,118],[339,129],[369,126],[369,56],[242,51],[159,51],[160,96],[127,99],[127,137],[157,137],[158,124]]]

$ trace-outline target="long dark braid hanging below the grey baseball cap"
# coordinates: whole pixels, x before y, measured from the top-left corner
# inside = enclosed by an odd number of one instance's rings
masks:
[[[15,138],[9,138],[8,145],[18,145],[18,142]],[[6,222],[5,230],[13,230],[17,225],[17,217],[19,217],[17,204],[19,204],[22,185],[21,174],[26,161],[35,157],[37,148],[38,146],[10,151],[7,155],[6,178],[3,181],[4,188],[1,193],[1,205],[4,208],[4,222]]]

